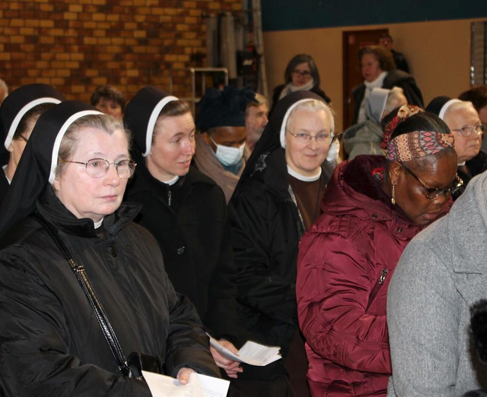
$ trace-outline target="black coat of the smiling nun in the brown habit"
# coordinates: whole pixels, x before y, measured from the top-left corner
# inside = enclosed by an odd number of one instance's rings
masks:
[[[328,182],[331,169],[322,166]],[[228,204],[240,321],[285,356],[298,329],[296,260],[304,225],[287,181],[284,149],[263,153]]]

